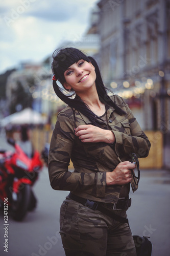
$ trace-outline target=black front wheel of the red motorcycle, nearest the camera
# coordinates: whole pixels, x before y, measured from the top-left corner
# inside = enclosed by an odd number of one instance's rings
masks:
[[[26,216],[30,204],[30,185],[24,184],[24,187],[19,190],[16,196],[16,200],[12,202],[12,218],[16,221],[21,221]]]

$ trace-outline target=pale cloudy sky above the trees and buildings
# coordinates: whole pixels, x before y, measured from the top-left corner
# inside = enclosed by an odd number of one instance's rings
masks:
[[[5,0],[0,3],[0,74],[41,62],[65,40],[79,40],[99,0]]]

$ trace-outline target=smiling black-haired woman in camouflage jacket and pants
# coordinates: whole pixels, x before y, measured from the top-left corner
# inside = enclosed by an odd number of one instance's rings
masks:
[[[125,101],[107,95],[92,57],[65,48],[53,58],[53,87],[68,104],[58,114],[48,160],[51,186],[70,191],[60,209],[65,254],[135,256],[126,219],[130,183],[137,189],[130,161],[132,153],[147,157],[150,142]]]

